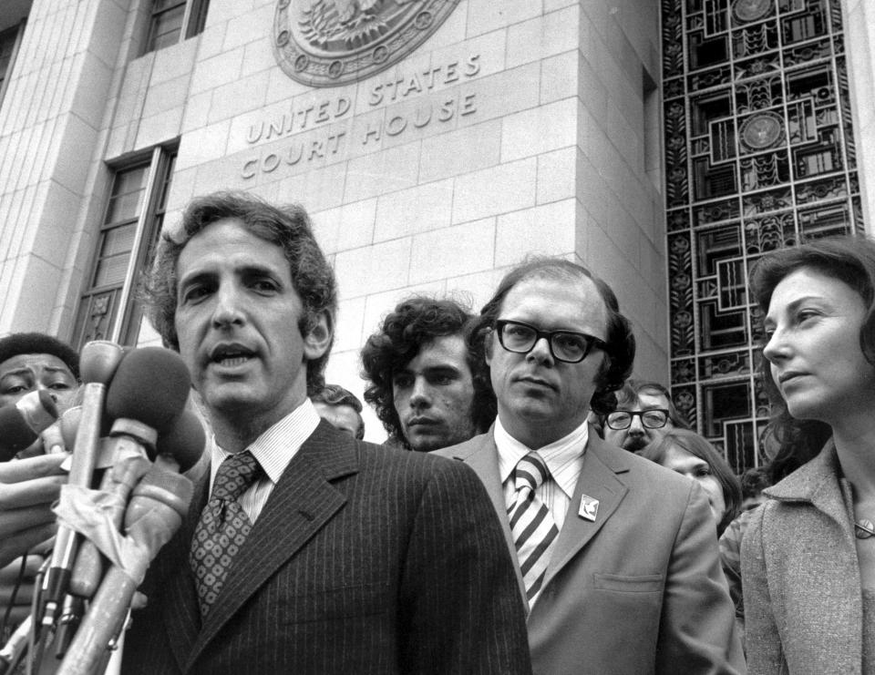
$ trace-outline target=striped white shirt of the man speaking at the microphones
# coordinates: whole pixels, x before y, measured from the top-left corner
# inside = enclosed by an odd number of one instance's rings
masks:
[[[283,476],[285,467],[292,461],[292,457],[297,455],[304,441],[313,434],[318,425],[319,414],[307,398],[304,399],[303,404],[285,415],[244,448],[252,453],[264,471],[262,477],[240,497],[240,504],[252,523],[262,512],[267,498],[273,492],[273,487],[279,482],[280,476]],[[222,450],[216,443],[215,436],[212,438],[210,453],[210,492],[212,492],[219,465],[232,453]]]

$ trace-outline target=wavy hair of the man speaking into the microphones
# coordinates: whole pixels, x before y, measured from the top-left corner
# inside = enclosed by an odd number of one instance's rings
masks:
[[[283,249],[292,271],[294,290],[301,297],[304,312],[297,329],[310,332],[324,313],[334,336],[337,313],[335,273],[316,243],[310,218],[303,207],[291,204],[276,207],[245,192],[214,192],[192,199],[182,214],[180,230],[164,232],[155,262],[144,280],[142,295],[148,303],[149,321],[165,346],[180,349],[176,334],[176,267],[180,253],[189,240],[217,220],[235,218],[256,237]],[[290,326],[290,330],[292,327]],[[332,342],[334,337],[332,337]],[[307,392],[324,385],[324,368],[331,344],[318,359],[307,362]]]

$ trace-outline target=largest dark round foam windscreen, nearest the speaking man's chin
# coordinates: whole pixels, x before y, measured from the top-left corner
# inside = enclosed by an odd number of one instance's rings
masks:
[[[189,370],[176,352],[142,347],[118,364],[107,391],[107,413],[148,424],[159,434],[170,429],[189,396]]]

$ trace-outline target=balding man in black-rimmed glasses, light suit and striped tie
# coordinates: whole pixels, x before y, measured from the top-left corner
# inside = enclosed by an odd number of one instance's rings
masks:
[[[632,371],[613,291],[570,261],[511,270],[468,346],[498,418],[435,454],[479,475],[517,562],[535,673],[734,673],[744,658],[695,481],[602,440]]]

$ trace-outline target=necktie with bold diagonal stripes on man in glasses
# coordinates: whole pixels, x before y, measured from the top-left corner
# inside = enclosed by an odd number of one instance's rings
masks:
[[[538,597],[553,543],[559,535],[550,509],[535,492],[548,476],[550,469],[538,453],[529,453],[520,459],[514,470],[517,495],[508,509],[510,533],[517,547],[529,607]]]

